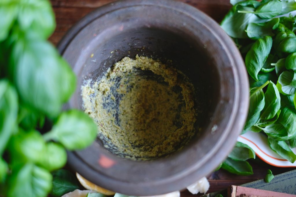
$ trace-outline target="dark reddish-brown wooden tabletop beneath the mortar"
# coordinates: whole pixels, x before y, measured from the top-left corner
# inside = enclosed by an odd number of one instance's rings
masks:
[[[51,0],[57,20],[57,28],[49,40],[56,45],[67,30],[72,27],[79,19],[93,11],[99,6],[110,3],[114,0]],[[229,0],[181,0],[192,5],[210,17],[220,22],[227,13],[231,4]],[[271,169],[274,175],[294,170],[294,168],[278,168],[262,162],[260,159],[250,161],[253,166],[254,174],[250,176],[238,176],[230,174],[224,170],[218,170],[210,174],[207,178],[210,182],[208,192],[220,191],[229,185],[240,185],[265,177],[267,169]],[[181,196],[200,196],[192,195],[188,191],[181,192]]]

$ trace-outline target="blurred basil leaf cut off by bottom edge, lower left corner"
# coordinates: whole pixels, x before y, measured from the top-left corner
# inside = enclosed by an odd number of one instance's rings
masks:
[[[14,168],[7,196],[46,197],[52,188],[52,175],[32,163]]]

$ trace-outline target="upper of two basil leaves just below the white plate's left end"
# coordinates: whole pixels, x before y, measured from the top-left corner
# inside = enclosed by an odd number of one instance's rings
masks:
[[[241,142],[237,142],[228,157],[235,161],[245,161],[250,158],[255,159],[256,156],[255,152],[250,148],[250,146]]]

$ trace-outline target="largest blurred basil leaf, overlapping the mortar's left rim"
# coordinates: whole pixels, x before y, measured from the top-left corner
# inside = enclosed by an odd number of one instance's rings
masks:
[[[47,41],[21,37],[10,57],[10,75],[22,101],[56,117],[75,91],[70,66]]]

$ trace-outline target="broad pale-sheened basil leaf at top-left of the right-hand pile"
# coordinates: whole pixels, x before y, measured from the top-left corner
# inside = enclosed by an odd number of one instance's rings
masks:
[[[245,2],[254,3],[254,1],[245,1]],[[233,6],[232,9],[226,14],[226,16],[221,22],[222,29],[232,38],[248,38],[247,33],[244,31],[246,30],[247,25],[250,22],[259,21],[259,18],[255,14],[238,13],[238,10],[249,11],[249,12],[255,10],[254,7],[242,6],[240,4],[242,4],[242,2],[240,2],[236,6]]]

